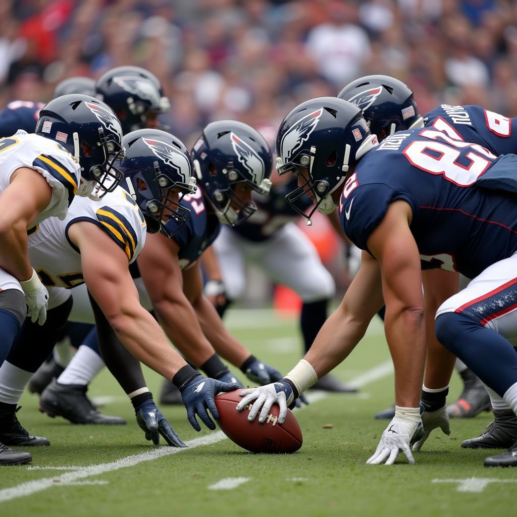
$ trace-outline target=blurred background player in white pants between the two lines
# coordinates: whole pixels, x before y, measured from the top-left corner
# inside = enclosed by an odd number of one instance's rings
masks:
[[[267,126],[264,129],[262,134],[272,132]],[[285,199],[293,189],[291,178],[274,174],[271,179],[269,193],[253,196],[257,206],[254,214],[242,224],[225,225],[221,229],[213,248],[219,266],[215,271],[222,278],[208,274],[205,292],[214,296],[225,294],[224,302],[217,307],[222,317],[244,290],[245,261],[260,266],[273,281],[287,285],[303,300],[300,328],[307,352],[327,319],[328,302],[335,291],[334,281],[310,239],[295,224],[300,216]],[[305,197],[297,206],[304,211],[310,205],[311,201]],[[321,378],[313,388],[336,392],[357,390],[331,375]]]

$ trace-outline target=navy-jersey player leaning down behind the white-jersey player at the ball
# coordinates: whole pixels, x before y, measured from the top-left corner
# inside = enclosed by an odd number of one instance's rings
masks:
[[[239,141],[234,148],[232,142]],[[148,149],[156,156],[168,159],[169,146],[159,140],[148,140]],[[237,149],[237,150],[235,150]],[[131,147],[128,149],[131,157]],[[241,154],[239,154],[241,153]],[[246,219],[255,210],[251,202],[251,191],[266,192],[269,188],[268,175],[271,172],[270,153],[264,139],[246,124],[226,120],[208,125],[192,149],[196,176],[200,188],[181,199],[181,206],[190,210],[190,217],[179,230],[175,221],[167,226],[174,235],[165,238],[161,234],[149,235],[138,260],[138,269],[133,269],[133,278],[139,287],[143,300],[148,300],[148,308],[154,308],[158,321],[175,346],[196,367],[208,376],[231,380],[229,372],[220,357],[239,367],[248,378],[265,384],[281,378],[280,373],[254,357],[224,327],[215,308],[203,295],[199,258],[216,238],[220,221]],[[125,163],[121,169],[126,170]],[[136,179],[138,175],[134,173]],[[136,181],[134,179],[134,181]],[[142,203],[147,203],[145,192],[138,192]],[[84,289],[74,293],[72,321],[88,322],[91,310],[85,303]],[[145,304],[145,301],[144,301]],[[77,387],[64,385],[68,371],[73,369],[77,376],[91,380],[92,373],[85,371],[72,359],[62,376],[50,384],[41,395],[40,406],[48,413],[59,414],[70,419],[75,414],[70,400],[85,397]],[[82,369],[80,375],[77,374]],[[96,373],[96,372],[95,372]]]

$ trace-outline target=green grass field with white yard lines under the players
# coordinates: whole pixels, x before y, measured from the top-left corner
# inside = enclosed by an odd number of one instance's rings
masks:
[[[229,327],[258,357],[287,372],[299,357],[297,320],[270,311],[231,311]],[[125,426],[72,425],[37,410],[25,394],[18,416],[51,447],[31,448],[33,463],[0,470],[0,515],[512,515],[517,469],[483,467],[486,451],[461,449],[490,421],[453,420],[452,434],[435,431],[416,454],[393,466],[366,465],[386,421],[377,410],[393,400],[393,375],[382,325],[335,373],[362,385],[358,394],[319,398],[295,415],[303,447],[291,455],[250,454],[220,431],[196,433],[183,407],[161,407],[190,449],[153,447],[136,425],[132,406],[107,372],[90,387],[91,397],[111,396],[103,411],[123,416]],[[242,375],[240,376],[242,378]],[[147,371],[158,400],[160,377]],[[244,380],[244,379],[243,379]],[[454,374],[451,400],[460,391]],[[332,428],[324,428],[332,424]],[[205,443],[208,442],[208,443]],[[180,451],[180,452],[176,452]],[[222,479],[242,478],[217,490]],[[229,482],[231,484],[231,482]]]

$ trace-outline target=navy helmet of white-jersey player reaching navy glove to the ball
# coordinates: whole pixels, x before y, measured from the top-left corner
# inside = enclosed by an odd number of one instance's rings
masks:
[[[190,210],[173,199],[196,190],[192,159],[175,136],[159,129],[139,129],[124,136],[126,156],[119,168],[122,186],[142,210],[149,233],[172,237],[190,216]]]

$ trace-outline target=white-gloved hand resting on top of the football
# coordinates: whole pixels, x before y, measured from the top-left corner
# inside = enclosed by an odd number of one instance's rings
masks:
[[[260,423],[264,422],[271,406],[278,404],[280,406],[278,422],[284,423],[285,416],[287,415],[287,407],[294,404],[293,388],[291,384],[285,381],[267,384],[266,386],[260,386],[258,388],[245,389],[242,390],[239,395],[244,398],[237,404],[237,411],[242,411],[248,404],[255,401],[248,415],[250,422],[255,419],[259,411],[260,415],[258,415],[258,421]]]

